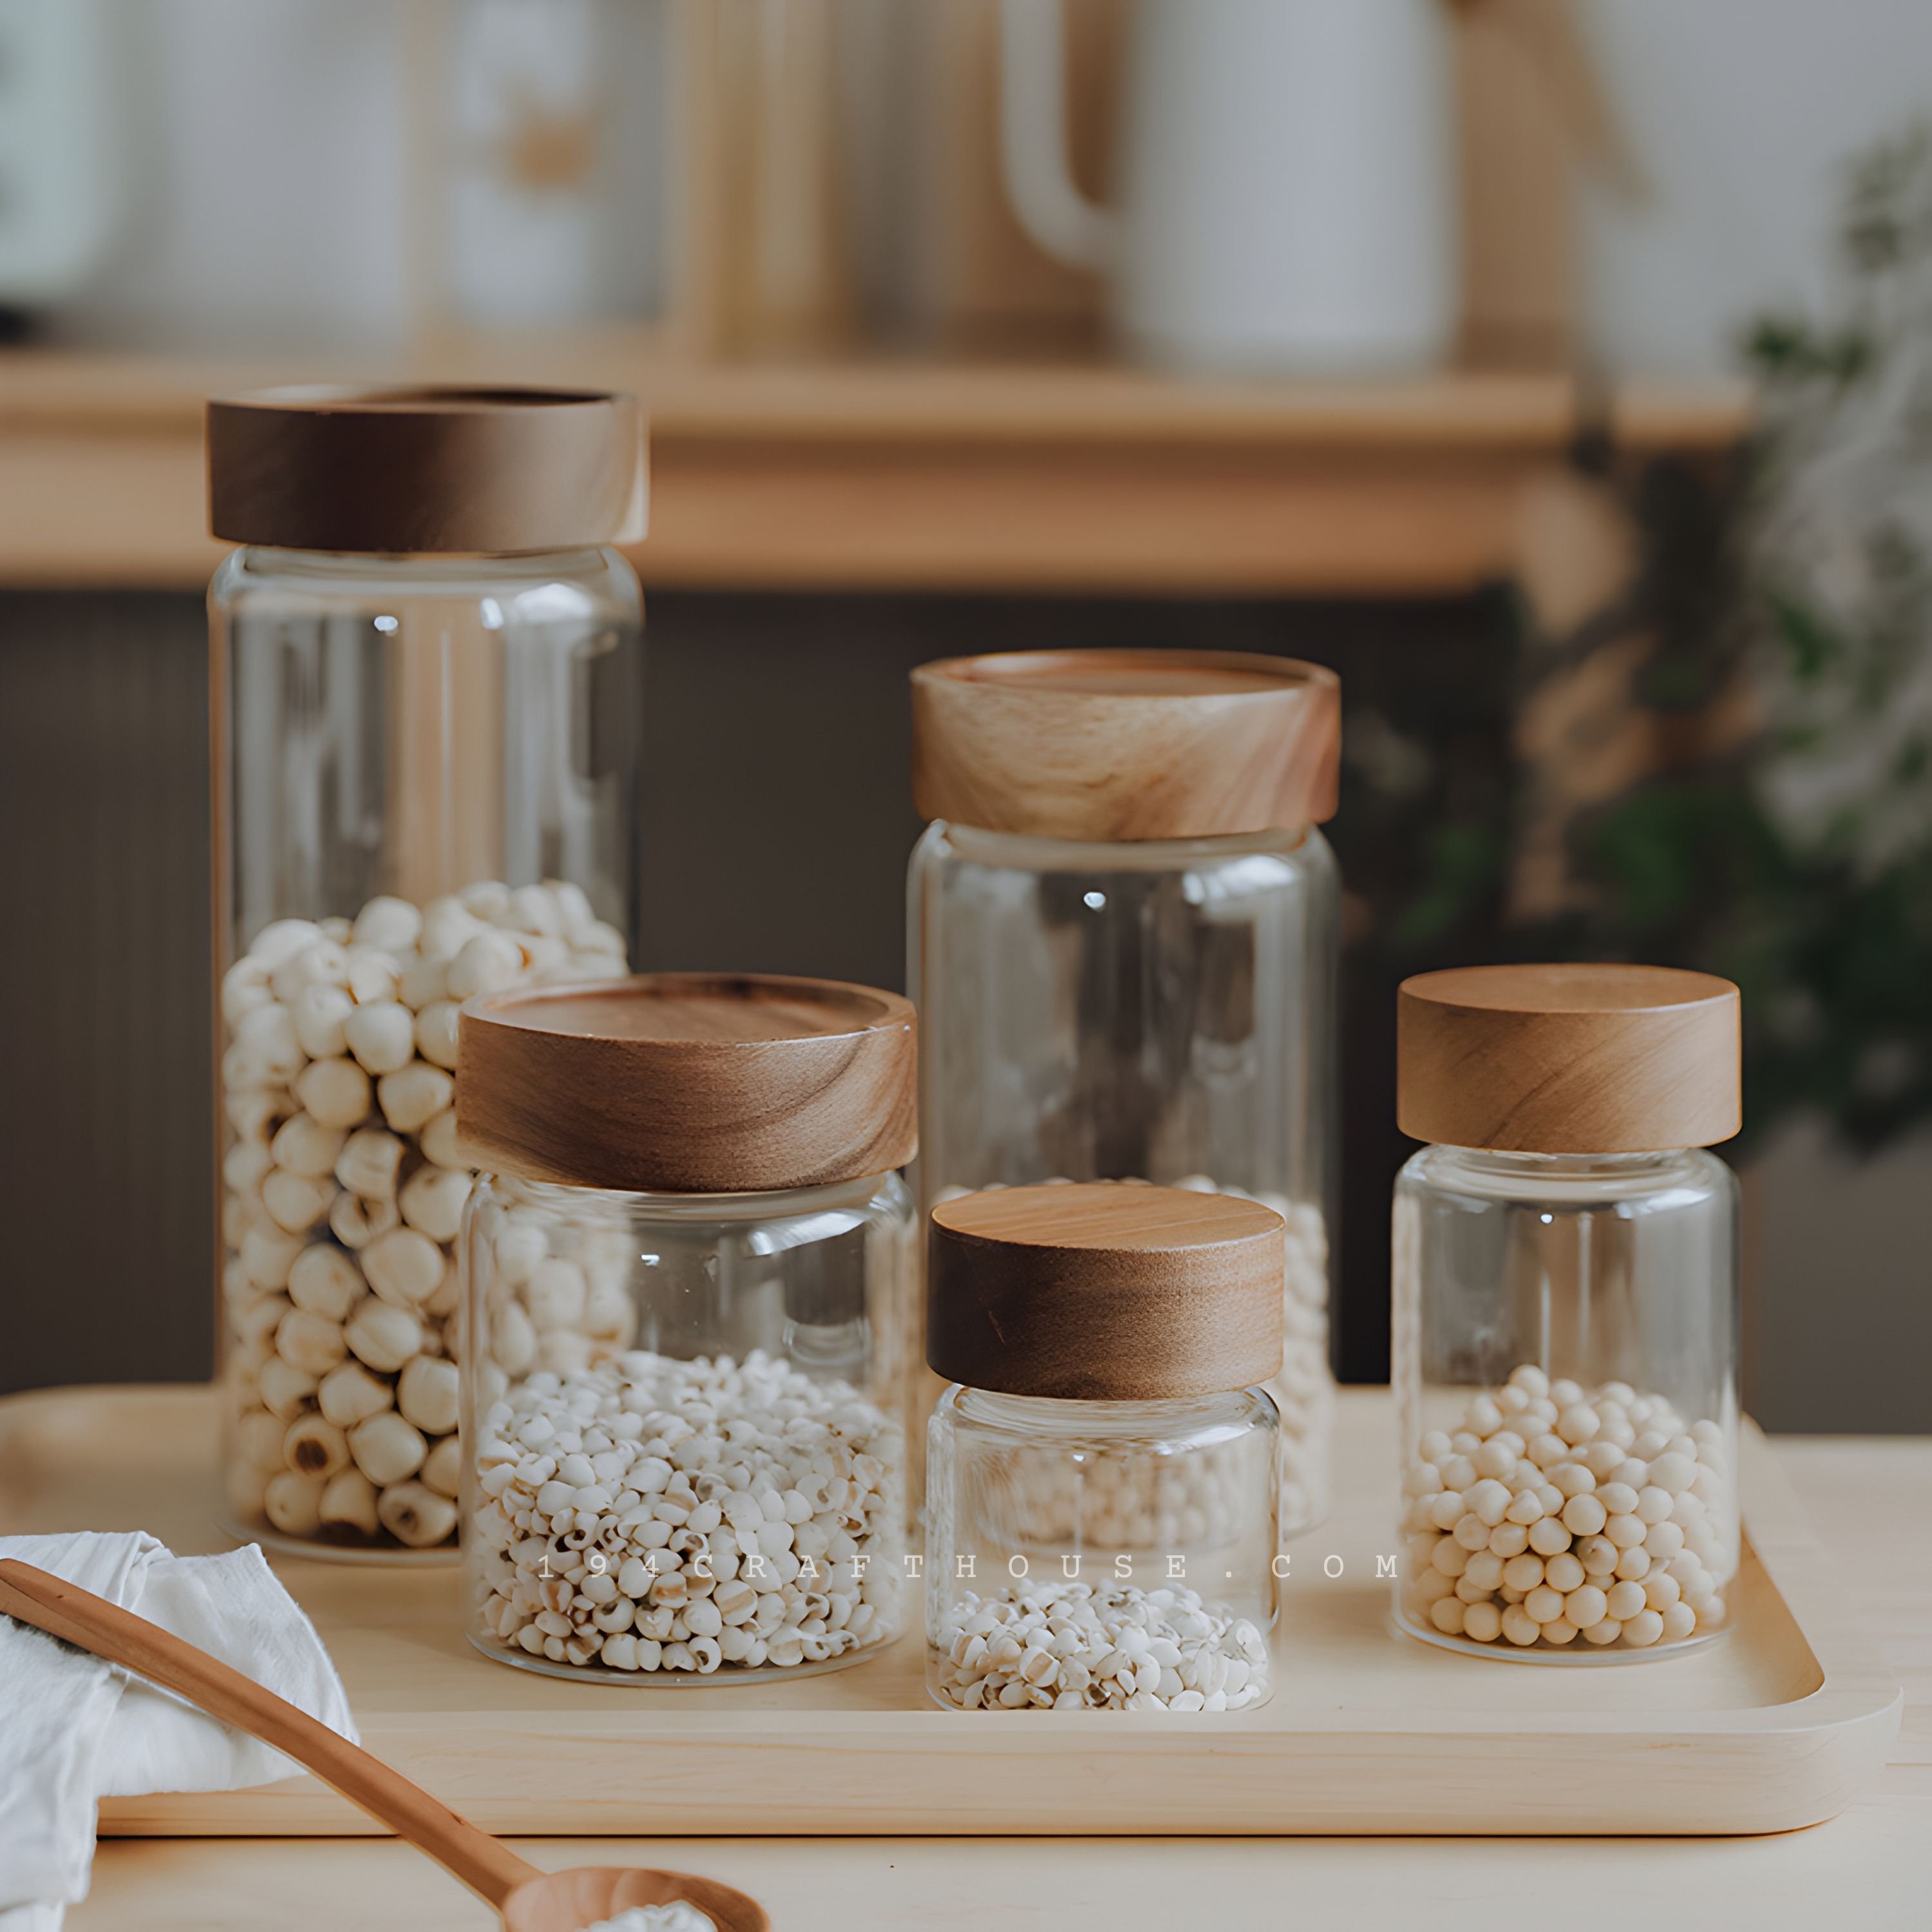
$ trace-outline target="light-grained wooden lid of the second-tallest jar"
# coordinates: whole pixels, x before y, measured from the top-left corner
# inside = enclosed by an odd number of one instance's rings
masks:
[[[912,672],[912,800],[1036,838],[1211,838],[1335,815],[1341,682],[1238,651],[1014,651]]]

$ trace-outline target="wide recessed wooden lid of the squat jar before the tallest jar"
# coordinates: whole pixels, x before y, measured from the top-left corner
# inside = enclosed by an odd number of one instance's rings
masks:
[[[916,1024],[896,993],[777,974],[479,993],[456,1132],[531,1180],[645,1194],[883,1175],[920,1144]]]

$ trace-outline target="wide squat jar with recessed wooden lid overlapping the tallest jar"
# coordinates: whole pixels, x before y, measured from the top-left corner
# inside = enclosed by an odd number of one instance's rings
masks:
[[[902,1629],[916,1030],[895,993],[649,974],[464,1007],[471,1642],[692,1685]]]

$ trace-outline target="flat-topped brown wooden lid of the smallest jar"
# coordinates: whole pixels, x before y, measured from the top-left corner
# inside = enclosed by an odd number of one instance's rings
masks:
[[[1003,1395],[1153,1403],[1281,1368],[1283,1221],[1124,1180],[987,1188],[933,1209],[925,1360]]]

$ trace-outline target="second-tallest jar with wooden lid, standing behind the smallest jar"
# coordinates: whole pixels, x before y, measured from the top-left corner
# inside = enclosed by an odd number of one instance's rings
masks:
[[[1327,1509],[1339,1167],[1339,688],[1202,651],[914,672],[910,968],[927,1206],[1043,1180],[1246,1196],[1287,1221],[1289,1532]],[[929,1397],[927,1397],[929,1399]]]

